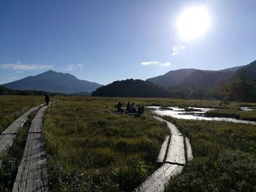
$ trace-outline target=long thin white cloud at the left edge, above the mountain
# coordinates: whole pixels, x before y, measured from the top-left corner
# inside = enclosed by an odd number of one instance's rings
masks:
[[[10,69],[15,71],[31,71],[31,70],[42,70],[50,69],[53,66],[50,65],[39,65],[39,64],[0,64],[0,69]]]

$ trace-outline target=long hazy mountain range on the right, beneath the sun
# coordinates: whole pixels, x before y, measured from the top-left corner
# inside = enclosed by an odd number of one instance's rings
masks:
[[[219,82],[230,82],[236,77],[236,72],[245,66],[236,66],[219,71],[208,71],[199,69],[178,69],[167,72],[147,81],[154,82],[164,88],[180,86],[184,88],[212,87]]]

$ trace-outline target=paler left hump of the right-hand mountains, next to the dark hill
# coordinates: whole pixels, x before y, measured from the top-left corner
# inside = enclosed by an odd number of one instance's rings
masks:
[[[192,72],[195,72],[197,69],[178,69],[167,72],[166,74],[147,79],[146,81],[154,82],[157,85],[168,88],[178,85],[184,78],[186,78]]]

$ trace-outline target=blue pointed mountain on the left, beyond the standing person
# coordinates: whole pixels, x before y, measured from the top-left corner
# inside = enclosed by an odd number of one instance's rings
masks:
[[[72,74],[53,72],[52,70],[37,74],[35,76],[25,77],[21,80],[8,82],[3,85],[6,88],[16,90],[37,90],[48,91],[51,93],[78,93],[89,92],[101,87],[96,82],[78,80]]]

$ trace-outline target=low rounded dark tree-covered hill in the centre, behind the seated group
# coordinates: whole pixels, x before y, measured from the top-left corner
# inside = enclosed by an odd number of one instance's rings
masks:
[[[91,96],[113,97],[166,97],[164,88],[160,88],[153,82],[143,80],[114,81],[108,85],[97,88]]]

